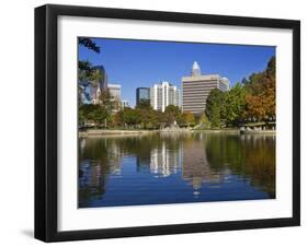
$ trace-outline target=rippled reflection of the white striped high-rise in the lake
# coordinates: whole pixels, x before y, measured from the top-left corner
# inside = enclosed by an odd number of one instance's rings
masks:
[[[158,176],[175,174],[182,162],[182,149],[169,150],[163,141],[161,146],[151,150],[150,170]]]

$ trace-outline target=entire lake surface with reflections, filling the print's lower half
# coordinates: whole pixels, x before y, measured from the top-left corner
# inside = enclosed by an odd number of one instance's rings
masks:
[[[275,198],[275,137],[79,140],[79,207]]]

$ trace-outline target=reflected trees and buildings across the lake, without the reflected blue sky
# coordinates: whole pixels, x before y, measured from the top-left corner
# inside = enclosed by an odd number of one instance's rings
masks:
[[[220,185],[236,174],[275,198],[275,137],[145,134],[79,140],[79,202],[101,199],[123,157],[136,157],[136,172],[182,178],[198,193],[203,183]]]

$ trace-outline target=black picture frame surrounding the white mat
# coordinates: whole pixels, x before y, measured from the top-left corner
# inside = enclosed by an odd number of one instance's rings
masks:
[[[142,227],[57,230],[57,20],[60,15],[199,23],[293,31],[293,216]],[[133,237],[300,224],[300,22],[47,4],[35,9],[35,238],[44,242]]]

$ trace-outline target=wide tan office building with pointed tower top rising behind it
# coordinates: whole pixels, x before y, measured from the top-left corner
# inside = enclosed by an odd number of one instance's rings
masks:
[[[191,111],[194,115],[203,114],[206,98],[214,89],[229,91],[230,82],[219,74],[202,74],[198,63],[194,61],[191,77],[182,78],[183,111]]]

